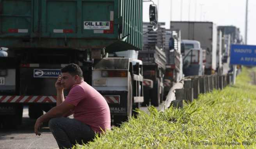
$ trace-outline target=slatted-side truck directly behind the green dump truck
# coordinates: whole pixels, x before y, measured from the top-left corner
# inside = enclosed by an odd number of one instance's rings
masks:
[[[138,58],[143,62],[144,102],[142,106],[159,106],[164,98],[164,73],[166,56],[164,51],[164,32],[161,27],[165,23],[157,25],[158,30],[152,30],[153,25],[143,23],[143,50],[139,51]]]

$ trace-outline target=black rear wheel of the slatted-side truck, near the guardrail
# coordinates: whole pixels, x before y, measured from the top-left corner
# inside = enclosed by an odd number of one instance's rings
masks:
[[[151,90],[151,105],[153,106],[159,106],[160,103],[160,80],[157,79],[156,83],[154,83],[154,88]]]

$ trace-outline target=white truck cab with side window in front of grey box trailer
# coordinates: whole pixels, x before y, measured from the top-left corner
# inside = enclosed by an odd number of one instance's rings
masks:
[[[200,42],[195,40],[181,40],[183,55],[183,73],[185,76],[204,75],[206,57]]]

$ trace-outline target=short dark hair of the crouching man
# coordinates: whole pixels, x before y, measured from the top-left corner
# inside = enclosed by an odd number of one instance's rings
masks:
[[[61,73],[70,73],[72,76],[78,75],[79,77],[83,78],[82,69],[74,63],[68,64],[67,66],[63,67],[61,69]]]

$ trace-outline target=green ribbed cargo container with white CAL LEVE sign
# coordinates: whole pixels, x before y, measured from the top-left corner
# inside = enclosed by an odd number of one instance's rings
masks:
[[[98,49],[112,44],[123,50],[142,49],[142,0],[1,0],[0,4],[3,47]]]

